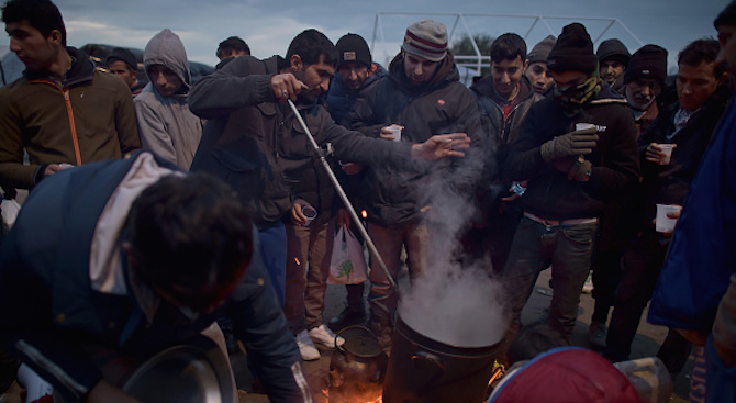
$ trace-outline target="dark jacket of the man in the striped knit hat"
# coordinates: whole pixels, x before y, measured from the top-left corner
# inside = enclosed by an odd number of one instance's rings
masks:
[[[402,144],[422,143],[447,133],[466,133],[471,139],[465,158],[425,164],[413,171],[371,166],[360,189],[369,221],[391,226],[417,220],[427,202],[420,190],[428,190],[431,183],[453,182],[461,193],[475,192],[471,189],[477,186],[483,163],[483,135],[476,98],[459,82],[453,60],[448,53],[432,81],[414,87],[399,55],[391,63],[389,79],[381,80],[356,109],[354,127],[369,137],[378,137],[383,126],[399,124],[404,127]]]

